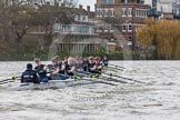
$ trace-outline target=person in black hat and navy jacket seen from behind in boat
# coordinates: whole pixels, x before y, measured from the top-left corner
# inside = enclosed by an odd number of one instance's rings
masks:
[[[27,64],[27,70],[21,76],[21,83],[40,83],[37,72],[32,70],[32,64]]]

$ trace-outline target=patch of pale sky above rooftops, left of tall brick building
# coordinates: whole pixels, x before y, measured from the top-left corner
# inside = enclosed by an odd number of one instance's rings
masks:
[[[79,0],[79,4],[82,4],[84,9],[87,8],[87,6],[90,6],[92,11],[94,11],[96,2],[97,0]]]

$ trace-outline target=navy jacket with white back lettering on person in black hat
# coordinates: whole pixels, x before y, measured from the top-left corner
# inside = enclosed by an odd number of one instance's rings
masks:
[[[21,82],[39,83],[37,72],[33,70],[26,70],[21,76]]]

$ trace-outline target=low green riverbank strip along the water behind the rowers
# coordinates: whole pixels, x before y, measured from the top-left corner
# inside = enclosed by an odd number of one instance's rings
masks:
[[[48,53],[48,52],[34,52],[34,53],[0,53],[0,61],[31,61],[34,58],[40,58],[41,60],[50,60],[53,56],[60,56],[61,59],[64,57],[76,57],[77,54],[71,53]],[[110,53],[80,53],[78,56],[82,57],[103,57],[107,56],[110,60],[140,60],[140,54],[138,52],[123,53],[122,51],[116,51]]]

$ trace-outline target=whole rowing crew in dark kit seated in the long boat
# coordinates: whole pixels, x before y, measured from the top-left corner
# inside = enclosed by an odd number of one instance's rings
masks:
[[[72,76],[81,76],[88,73],[101,73],[103,67],[108,67],[108,59],[103,57],[72,57],[64,58],[63,61],[57,56],[52,58],[51,64],[42,64],[40,59],[34,59],[36,67],[27,64],[27,70],[21,76],[21,82],[48,82],[49,80],[66,80]]]

